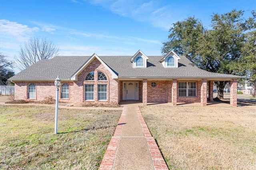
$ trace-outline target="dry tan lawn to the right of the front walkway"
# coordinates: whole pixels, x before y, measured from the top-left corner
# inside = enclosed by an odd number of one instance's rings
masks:
[[[170,169],[256,169],[256,106],[140,109]]]

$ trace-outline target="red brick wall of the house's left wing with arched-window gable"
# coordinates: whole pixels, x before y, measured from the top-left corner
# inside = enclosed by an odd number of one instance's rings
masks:
[[[93,81],[84,81],[86,75],[94,71]],[[103,72],[107,80],[98,81],[98,71]],[[61,78],[61,77],[60,77]],[[36,99],[28,99],[28,85],[36,85]],[[118,103],[118,80],[112,79],[112,74],[97,59],[94,59],[79,75],[78,80],[74,82],[62,82],[69,84],[69,99],[61,99],[62,102],[85,102],[84,101],[84,84],[94,84],[94,101],[95,102],[115,102]],[[107,84],[107,101],[97,101],[98,84]],[[61,92],[61,88],[60,88]],[[53,82],[15,82],[15,100],[44,100],[46,96],[56,96],[56,86]],[[59,94],[60,96],[60,94]]]

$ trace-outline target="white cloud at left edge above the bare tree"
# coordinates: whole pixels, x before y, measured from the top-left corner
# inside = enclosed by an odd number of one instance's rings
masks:
[[[14,38],[20,42],[27,40],[34,32],[39,31],[38,27],[28,27],[28,25],[9,20],[0,20],[0,28],[2,38]]]

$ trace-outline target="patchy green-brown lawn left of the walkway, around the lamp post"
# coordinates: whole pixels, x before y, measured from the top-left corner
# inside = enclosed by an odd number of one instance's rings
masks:
[[[121,111],[0,106],[0,169],[98,169]]]

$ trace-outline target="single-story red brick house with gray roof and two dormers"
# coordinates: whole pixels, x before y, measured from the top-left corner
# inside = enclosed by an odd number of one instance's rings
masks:
[[[55,96],[54,80],[62,80],[62,102],[201,103],[213,101],[213,82],[230,80],[230,104],[237,105],[240,76],[213,73],[194,66],[174,51],[164,56],[60,56],[40,60],[9,80],[15,100]],[[207,97],[208,96],[208,97]]]

